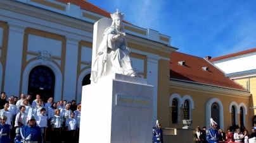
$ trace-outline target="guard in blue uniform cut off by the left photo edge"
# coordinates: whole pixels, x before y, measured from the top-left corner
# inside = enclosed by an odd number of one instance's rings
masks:
[[[0,123],[0,143],[10,143],[10,127],[11,125],[6,124],[7,117],[2,116]]]

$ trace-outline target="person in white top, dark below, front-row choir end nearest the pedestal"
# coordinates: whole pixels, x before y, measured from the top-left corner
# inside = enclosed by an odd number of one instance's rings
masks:
[[[77,121],[74,117],[75,113],[71,113],[70,118],[66,120],[68,142],[75,142],[75,130],[77,129]]]

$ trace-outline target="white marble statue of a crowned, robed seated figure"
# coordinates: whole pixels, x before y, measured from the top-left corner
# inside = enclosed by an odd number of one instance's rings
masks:
[[[125,31],[122,20],[124,13],[118,11],[110,14],[112,25],[106,28],[103,33],[103,40],[99,45],[96,59],[92,63],[91,81],[97,82],[98,78],[103,77],[103,70],[106,66],[112,66],[111,72],[124,74],[127,76],[136,76],[132,69],[131,59],[129,57],[129,48],[125,39]],[[106,64],[110,60],[111,64]]]

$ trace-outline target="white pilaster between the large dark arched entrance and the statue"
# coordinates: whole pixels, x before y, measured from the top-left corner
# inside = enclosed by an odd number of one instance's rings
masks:
[[[66,39],[63,100],[72,101],[75,100],[77,87],[77,55],[80,40],[74,37],[66,37]]]

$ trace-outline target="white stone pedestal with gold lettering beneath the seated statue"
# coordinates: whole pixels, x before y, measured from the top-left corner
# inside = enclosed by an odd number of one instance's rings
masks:
[[[79,142],[152,142],[153,86],[110,74],[82,87]]]

